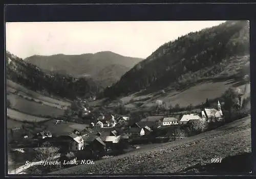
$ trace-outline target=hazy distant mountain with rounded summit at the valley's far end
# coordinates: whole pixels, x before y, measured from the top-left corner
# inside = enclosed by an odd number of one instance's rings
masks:
[[[99,52],[81,55],[34,55],[24,60],[48,71],[71,74],[74,77],[91,76],[104,86],[109,86],[142,59],[124,57],[113,52]],[[105,75],[99,74],[101,71]]]

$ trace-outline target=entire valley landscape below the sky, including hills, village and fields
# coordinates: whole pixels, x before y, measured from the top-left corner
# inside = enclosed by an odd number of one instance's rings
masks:
[[[230,173],[238,167],[228,165],[238,159],[240,172],[249,172],[248,21],[190,32],[148,55],[101,51],[20,59],[7,52],[9,150],[16,155],[26,148],[35,161],[47,155],[95,160],[19,172]]]

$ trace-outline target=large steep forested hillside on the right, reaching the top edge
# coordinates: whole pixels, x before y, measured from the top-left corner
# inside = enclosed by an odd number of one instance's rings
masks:
[[[126,72],[104,96],[142,89],[182,90],[201,80],[242,79],[249,74],[249,22],[226,21],[160,46]]]

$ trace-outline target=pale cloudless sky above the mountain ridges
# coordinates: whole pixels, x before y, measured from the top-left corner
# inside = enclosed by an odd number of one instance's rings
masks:
[[[19,58],[101,51],[146,58],[166,42],[222,22],[6,22],[6,49]]]

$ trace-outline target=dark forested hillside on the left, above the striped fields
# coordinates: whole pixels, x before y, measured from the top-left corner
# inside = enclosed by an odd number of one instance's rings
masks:
[[[58,73],[45,73],[35,65],[6,53],[6,78],[33,91],[75,99],[95,95],[102,88],[90,78],[73,78]]]

